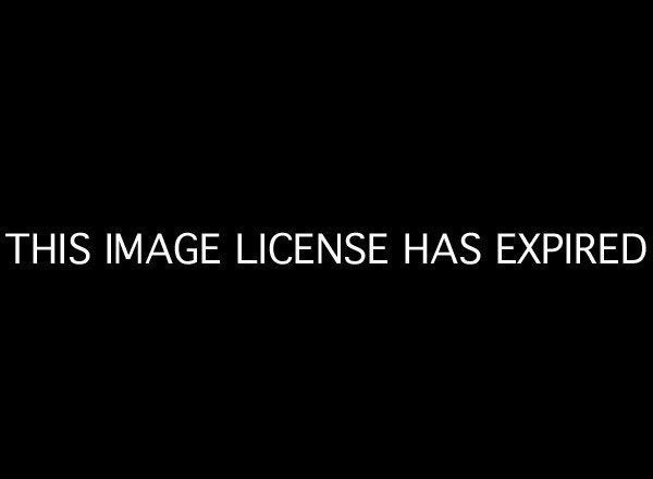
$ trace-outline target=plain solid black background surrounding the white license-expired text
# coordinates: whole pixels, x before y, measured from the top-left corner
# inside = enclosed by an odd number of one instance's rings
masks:
[[[493,237],[650,241],[644,32],[587,12],[269,13],[33,12],[3,60],[2,232],[387,231],[393,265],[5,261],[13,450],[623,467],[646,423],[650,259],[501,268]],[[401,266],[404,232],[466,231],[479,267]]]

